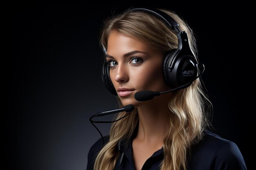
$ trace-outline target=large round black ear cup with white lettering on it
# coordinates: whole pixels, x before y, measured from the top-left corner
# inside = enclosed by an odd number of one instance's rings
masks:
[[[163,74],[166,84],[171,88],[179,86],[188,87],[192,79],[197,76],[197,62],[195,57],[191,55],[182,55],[180,51],[175,53],[176,49],[172,50],[164,60]]]

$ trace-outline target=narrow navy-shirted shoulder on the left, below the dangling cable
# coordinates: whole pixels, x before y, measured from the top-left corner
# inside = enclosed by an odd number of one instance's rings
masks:
[[[104,141],[105,144],[107,143],[107,141],[109,140],[109,135],[104,136]],[[90,148],[89,152],[88,152],[88,156],[87,156],[87,170],[92,170],[93,166],[94,166],[94,162],[95,159],[98,155],[98,153],[101,151],[101,149],[103,148],[104,143],[103,143],[103,139],[100,138],[98,139]]]

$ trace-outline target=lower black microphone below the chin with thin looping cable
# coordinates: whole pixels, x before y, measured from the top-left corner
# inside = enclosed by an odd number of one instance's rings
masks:
[[[94,126],[94,128],[96,128],[96,130],[99,132],[99,134],[101,135],[103,144],[105,144],[103,135],[101,134],[101,132],[99,131],[99,129],[98,129],[93,123],[112,123],[112,122],[119,121],[119,120],[123,119],[124,117],[128,116],[130,113],[128,113],[127,115],[124,115],[123,117],[121,117],[121,118],[119,118],[119,119],[117,119],[117,120],[114,120],[114,121],[93,121],[92,118],[93,118],[93,117],[100,117],[100,116],[110,115],[110,114],[114,114],[114,113],[119,113],[119,112],[123,112],[123,111],[125,111],[125,112],[131,112],[132,110],[134,110],[134,106],[133,106],[132,104],[128,104],[128,105],[124,106],[123,108],[118,108],[118,109],[114,109],[114,110],[108,110],[108,111],[98,112],[98,113],[96,113],[95,115],[92,115],[92,116],[90,117],[90,122],[91,122],[91,124]]]

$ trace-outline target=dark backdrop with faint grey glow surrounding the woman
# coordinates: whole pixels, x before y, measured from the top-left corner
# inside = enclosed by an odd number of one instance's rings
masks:
[[[88,150],[100,137],[89,117],[117,108],[115,96],[101,82],[103,53],[98,38],[102,21],[111,13],[144,5],[10,5],[12,49],[11,55],[2,56],[8,86],[4,114],[7,169],[86,169]],[[237,144],[249,169],[249,126],[255,113],[255,55],[249,43],[254,40],[252,4],[157,1],[147,6],[175,11],[195,32],[198,57],[206,67],[202,80],[213,104],[213,132]],[[110,124],[97,127],[107,135]]]

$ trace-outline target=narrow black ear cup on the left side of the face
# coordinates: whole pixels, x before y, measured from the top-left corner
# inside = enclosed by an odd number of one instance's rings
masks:
[[[108,91],[110,91],[110,93],[112,93],[113,95],[117,96],[115,87],[112,84],[111,79],[110,79],[109,70],[110,70],[110,67],[109,67],[108,63],[105,61],[103,64],[103,67],[102,67],[101,78],[102,78],[103,84],[106,86]]]

